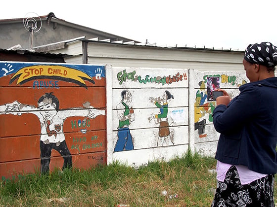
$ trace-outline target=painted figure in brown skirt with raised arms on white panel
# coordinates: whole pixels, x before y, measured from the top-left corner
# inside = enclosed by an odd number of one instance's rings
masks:
[[[149,98],[151,103],[155,104],[158,108],[160,108],[159,114],[152,114],[152,116],[154,116],[158,120],[158,122],[160,122],[157,146],[169,145],[169,139],[171,143],[174,144],[174,139],[170,134],[169,123],[167,118],[168,102],[170,101],[170,99],[174,99],[174,96],[169,91],[165,91],[163,93],[162,98]]]

